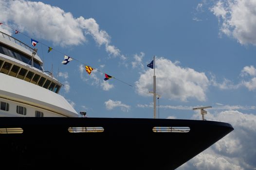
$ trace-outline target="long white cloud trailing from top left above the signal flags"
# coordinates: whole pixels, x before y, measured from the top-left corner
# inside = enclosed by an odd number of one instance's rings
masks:
[[[75,18],[70,12],[43,2],[1,0],[0,6],[2,22],[21,32],[27,32],[35,38],[43,38],[57,45],[68,46],[84,43],[87,40],[86,35],[90,34],[99,46],[105,45],[110,55],[120,55],[120,50],[110,45],[110,35],[101,30],[93,18]],[[31,16],[34,17],[31,18]],[[11,33],[9,28],[4,29],[5,33]]]

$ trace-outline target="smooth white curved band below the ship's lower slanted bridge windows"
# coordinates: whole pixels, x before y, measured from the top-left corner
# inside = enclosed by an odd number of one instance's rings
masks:
[[[0,98],[42,108],[66,117],[78,117],[66,99],[48,89],[0,73]]]

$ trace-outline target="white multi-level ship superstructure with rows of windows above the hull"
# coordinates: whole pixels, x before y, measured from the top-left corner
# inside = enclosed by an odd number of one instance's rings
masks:
[[[0,117],[78,117],[34,49],[0,32]]]

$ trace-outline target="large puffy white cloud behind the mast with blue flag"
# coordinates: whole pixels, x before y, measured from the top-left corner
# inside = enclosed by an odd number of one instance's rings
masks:
[[[152,69],[141,73],[135,83],[140,95],[150,96],[148,91],[152,91],[153,88],[152,75]],[[209,81],[203,72],[182,68],[163,57],[156,58],[156,89],[163,97],[181,101],[187,101],[188,98],[205,101],[208,85]]]

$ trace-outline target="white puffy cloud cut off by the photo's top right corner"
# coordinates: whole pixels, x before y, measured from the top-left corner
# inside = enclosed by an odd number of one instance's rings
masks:
[[[219,18],[220,33],[236,38],[240,44],[256,45],[255,8],[255,0],[219,0],[211,11]]]

